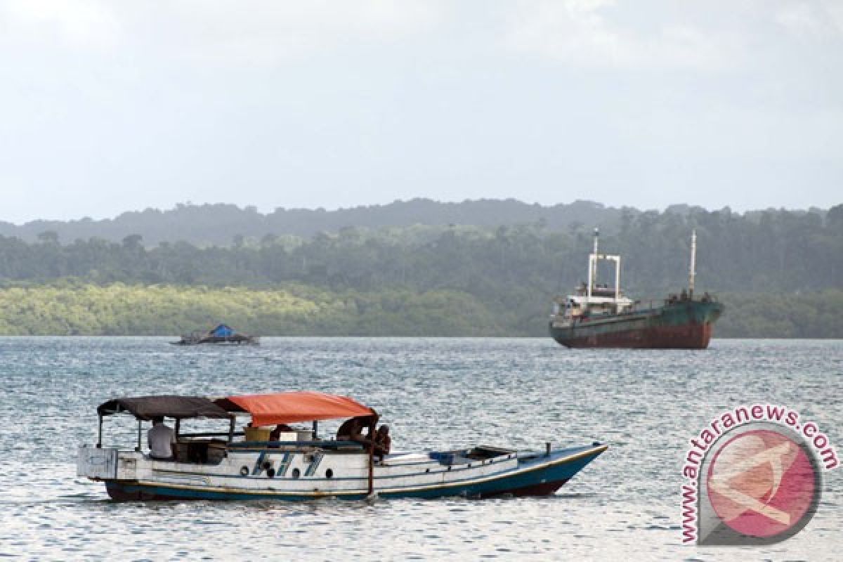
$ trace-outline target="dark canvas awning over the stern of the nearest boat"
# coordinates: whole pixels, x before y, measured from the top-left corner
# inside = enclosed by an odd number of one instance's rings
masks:
[[[227,411],[207,398],[198,396],[138,396],[118,398],[99,404],[97,414],[128,412],[138,420],[163,415],[169,418],[230,418]]]

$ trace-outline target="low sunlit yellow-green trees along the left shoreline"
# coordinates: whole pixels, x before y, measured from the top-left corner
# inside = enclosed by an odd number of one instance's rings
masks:
[[[204,286],[0,289],[3,335],[175,335],[225,321],[258,335],[506,335],[474,297],[448,290],[332,292]]]

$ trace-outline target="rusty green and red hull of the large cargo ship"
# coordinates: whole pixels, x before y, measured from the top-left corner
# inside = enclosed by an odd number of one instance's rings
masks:
[[[711,301],[679,301],[640,312],[550,323],[550,335],[566,347],[695,349],[708,347],[723,305]]]

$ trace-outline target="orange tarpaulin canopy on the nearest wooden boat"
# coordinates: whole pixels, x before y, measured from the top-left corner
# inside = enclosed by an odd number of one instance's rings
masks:
[[[253,426],[375,415],[373,409],[347,396],[317,392],[244,394],[215,402],[228,411],[249,412]]]

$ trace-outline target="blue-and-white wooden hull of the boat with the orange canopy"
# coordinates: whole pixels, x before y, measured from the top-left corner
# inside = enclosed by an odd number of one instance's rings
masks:
[[[387,474],[389,466],[376,466],[374,493],[381,498],[434,499],[449,496],[488,498],[501,495],[541,496],[552,495],[582,470],[594,458],[606,450],[605,445],[572,447],[546,454],[529,454],[507,459],[502,469],[490,472],[490,467],[479,463],[472,468],[453,465],[442,467],[443,475],[438,482],[432,482],[430,472],[419,468],[413,475],[396,479]],[[400,466],[400,465],[398,465]],[[420,463],[420,467],[422,464]],[[428,465],[427,468],[430,468]],[[393,467],[395,468],[395,467]],[[451,468],[454,468],[452,471]],[[380,475],[379,475],[380,474]],[[330,489],[324,480],[307,488],[293,490],[292,484],[285,486],[284,479],[263,479],[260,486],[238,487],[229,482],[214,485],[172,484],[129,479],[105,479],[105,488],[114,500],[317,500],[336,497],[344,500],[362,500],[368,497],[368,484],[357,479],[357,484],[344,489]],[[319,487],[319,490],[316,488]],[[285,489],[286,488],[286,489]]]

